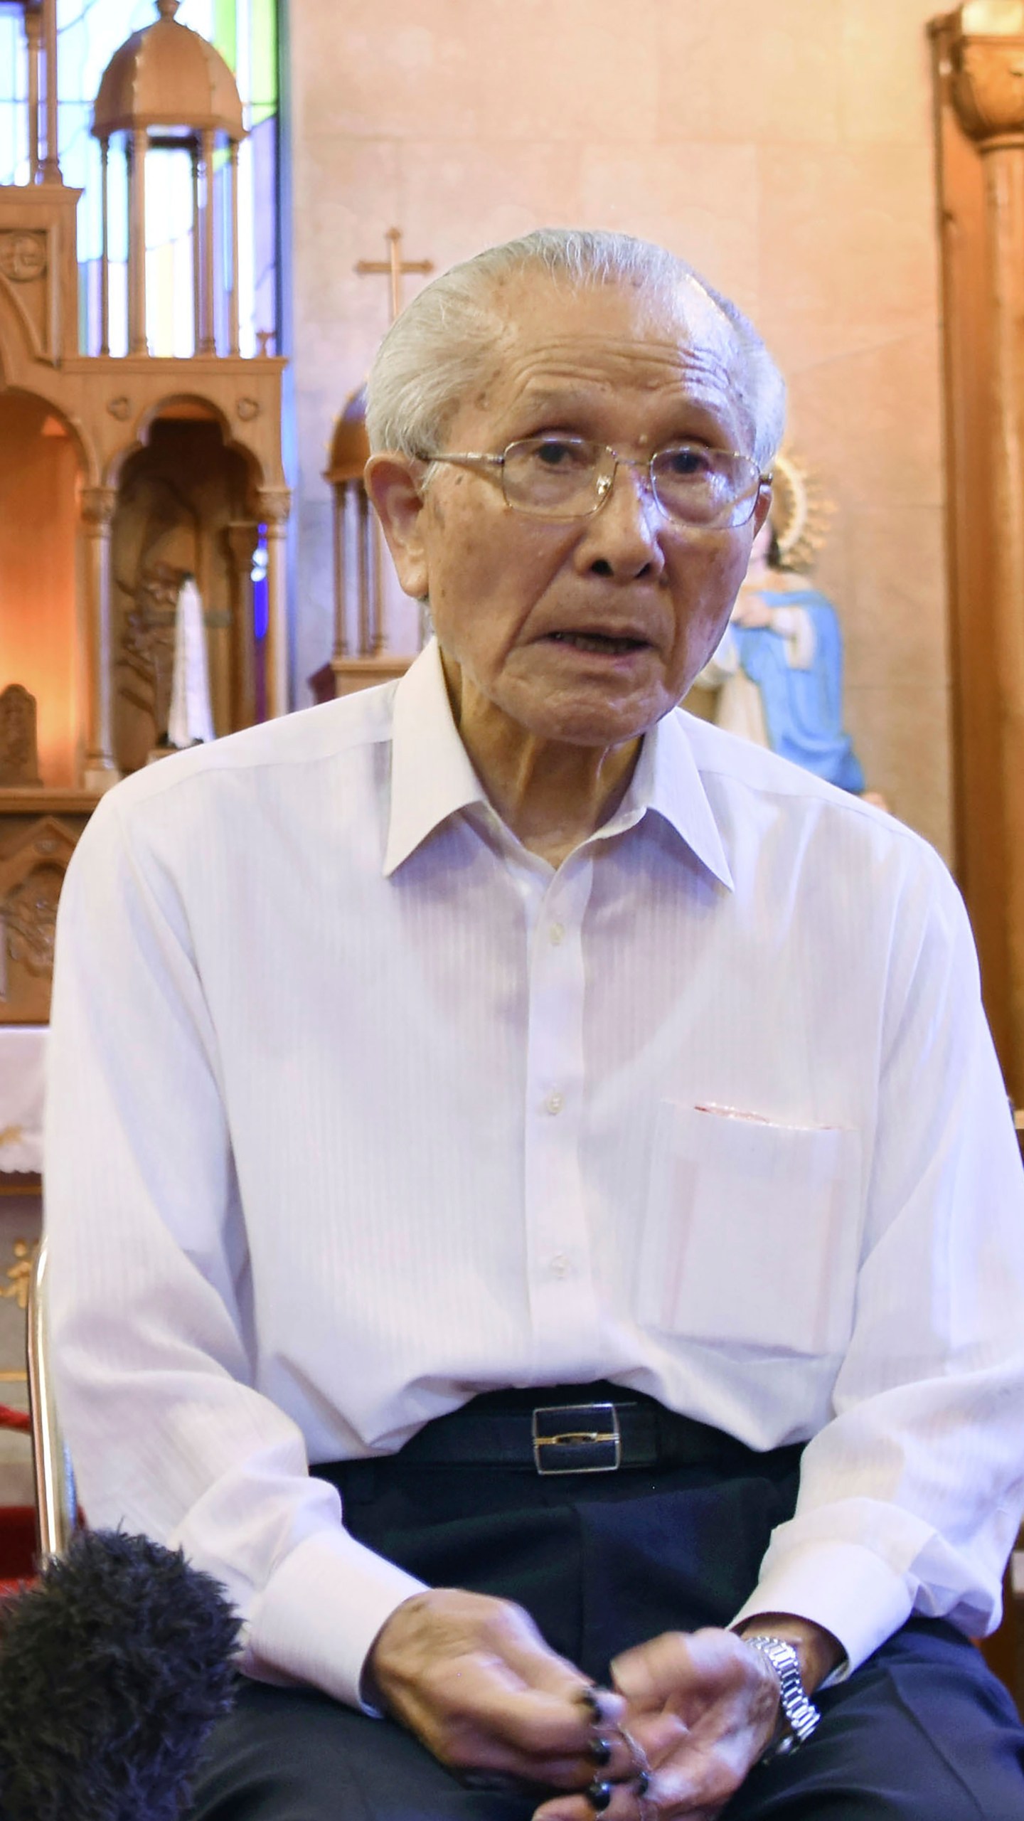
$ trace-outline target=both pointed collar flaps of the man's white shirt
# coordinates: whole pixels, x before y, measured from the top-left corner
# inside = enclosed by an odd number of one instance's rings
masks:
[[[384,878],[448,816],[472,803],[486,807],[486,790],[452,719],[441,652],[432,639],[395,688]],[[645,736],[623,803],[598,832],[618,834],[647,810],[661,816],[709,872],[732,890],[722,836],[687,739],[685,717],[678,710]]]

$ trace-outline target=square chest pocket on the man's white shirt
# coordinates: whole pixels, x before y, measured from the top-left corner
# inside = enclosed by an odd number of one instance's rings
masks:
[[[636,1313],[687,1340],[840,1353],[860,1249],[860,1134],[661,1102]]]

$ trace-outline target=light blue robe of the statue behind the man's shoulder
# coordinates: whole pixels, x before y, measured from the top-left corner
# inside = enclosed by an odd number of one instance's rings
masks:
[[[814,626],[809,670],[785,659],[785,639],[771,626],[736,626],[743,674],[762,694],[773,752],[816,772],[840,790],[864,790],[864,772],[842,727],[842,634],[831,601],[816,588],[765,595],[773,606],[802,606]]]

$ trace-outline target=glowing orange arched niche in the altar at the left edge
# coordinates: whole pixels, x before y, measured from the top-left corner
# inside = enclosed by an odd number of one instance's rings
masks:
[[[35,697],[36,778],[73,788],[80,763],[77,543],[78,450],[33,392],[0,390],[0,687]],[[0,787],[5,776],[0,752]]]

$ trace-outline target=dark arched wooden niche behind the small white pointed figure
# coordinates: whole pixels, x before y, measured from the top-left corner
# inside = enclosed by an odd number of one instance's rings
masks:
[[[120,468],[111,524],[113,743],[118,770],[144,765],[166,736],[182,579],[202,599],[217,734],[266,712],[253,557],[261,524],[251,461],[200,399],[153,415]]]

